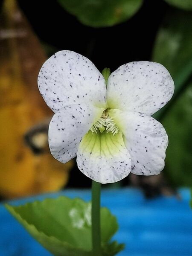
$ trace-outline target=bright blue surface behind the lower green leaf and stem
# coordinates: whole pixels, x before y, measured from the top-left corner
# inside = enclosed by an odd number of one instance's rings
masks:
[[[192,256],[192,210],[189,189],[180,189],[181,199],[144,198],[137,189],[102,191],[102,206],[111,209],[119,223],[114,239],[126,244],[119,256]],[[12,201],[24,204],[35,199],[66,195],[90,200],[90,190],[65,190]],[[0,205],[0,256],[51,256]]]

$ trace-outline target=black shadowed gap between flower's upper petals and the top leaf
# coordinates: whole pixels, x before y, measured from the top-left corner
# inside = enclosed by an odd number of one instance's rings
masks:
[[[145,0],[130,20],[94,29],[65,12],[56,0],[19,0],[38,38],[56,50],[68,49],[88,58],[102,71],[130,61],[150,60],[157,29],[166,10],[163,0]],[[50,52],[52,54],[52,52]]]

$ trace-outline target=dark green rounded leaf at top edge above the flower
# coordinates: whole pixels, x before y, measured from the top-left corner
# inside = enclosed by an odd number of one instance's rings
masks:
[[[143,0],[58,0],[72,15],[87,26],[107,27],[131,18]]]

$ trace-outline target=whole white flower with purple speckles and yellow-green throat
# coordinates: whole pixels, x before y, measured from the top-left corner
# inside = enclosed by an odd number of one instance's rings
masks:
[[[87,177],[112,183],[130,172],[157,175],[168,137],[150,115],[171,99],[174,82],[161,64],[138,61],[105,79],[93,63],[71,51],[57,52],[41,68],[38,87],[55,112],[49,147],[66,163],[77,156]]]

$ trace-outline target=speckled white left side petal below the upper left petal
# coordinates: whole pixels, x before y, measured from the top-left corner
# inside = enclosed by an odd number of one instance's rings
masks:
[[[82,137],[102,112],[101,108],[82,103],[65,106],[55,113],[49,124],[49,148],[53,157],[61,163],[76,157]]]

